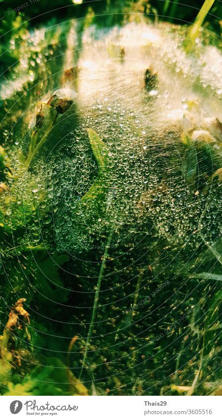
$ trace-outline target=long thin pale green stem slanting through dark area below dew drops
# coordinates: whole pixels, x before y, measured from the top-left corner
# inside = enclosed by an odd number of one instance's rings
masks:
[[[87,335],[85,352],[84,352],[84,356],[83,356],[82,367],[81,367],[81,371],[80,371],[80,374],[79,374],[79,378],[80,378],[80,376],[82,374],[82,370],[84,368],[84,364],[85,364],[85,360],[86,360],[86,356],[87,356],[87,351],[88,351],[88,347],[89,347],[89,342],[90,342],[90,339],[92,337],[92,332],[93,332],[93,327],[94,327],[96,312],[97,312],[97,307],[98,307],[98,301],[99,301],[100,288],[101,288],[102,279],[103,279],[103,272],[104,272],[105,263],[106,263],[106,260],[107,260],[107,257],[108,257],[108,251],[109,251],[109,248],[110,248],[112,233],[113,233],[113,230],[111,230],[111,232],[108,236],[108,239],[107,239],[107,243],[106,243],[106,247],[105,247],[105,251],[104,251],[104,255],[103,255],[103,261],[102,261],[102,264],[101,264],[100,273],[99,273],[99,277],[98,277],[98,281],[97,281],[96,292],[95,292],[95,297],[94,297],[94,302],[93,302],[93,311],[92,311],[92,316],[91,316],[89,331],[88,331],[88,335]]]

